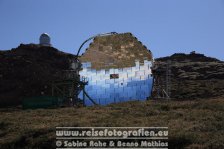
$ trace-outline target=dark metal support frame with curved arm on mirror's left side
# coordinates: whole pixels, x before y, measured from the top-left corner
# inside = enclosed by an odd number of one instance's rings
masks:
[[[79,71],[81,69],[81,63],[78,59],[79,53],[82,49],[82,47],[87,43],[88,41],[94,39],[95,37],[99,36],[108,36],[108,35],[114,35],[117,34],[116,32],[109,32],[109,33],[102,33],[97,34],[95,36],[92,36],[85,40],[81,46],[79,47],[76,58],[74,61],[74,69],[73,70],[66,70],[63,72],[64,78],[58,81],[54,81],[52,83],[52,96],[61,97],[64,99],[64,103],[66,106],[74,106],[79,105],[80,103],[85,106],[85,100],[86,97],[94,104],[97,105],[97,103],[88,95],[88,93],[85,91],[85,86],[88,84],[88,81],[86,78],[80,78]],[[78,95],[80,93],[83,93],[83,99],[79,99]]]

